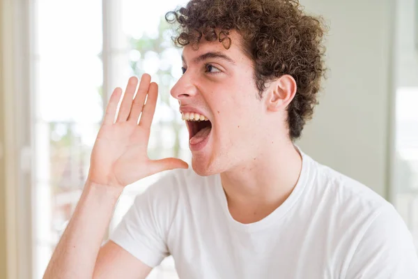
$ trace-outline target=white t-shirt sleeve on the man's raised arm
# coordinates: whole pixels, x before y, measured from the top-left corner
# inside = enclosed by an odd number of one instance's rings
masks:
[[[168,174],[138,195],[110,240],[155,267],[169,255],[167,234],[178,203],[176,179]]]

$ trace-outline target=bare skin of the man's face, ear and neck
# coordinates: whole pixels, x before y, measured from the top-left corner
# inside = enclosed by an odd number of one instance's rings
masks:
[[[241,40],[236,32],[230,37],[232,42]],[[197,59],[210,52],[227,58]],[[284,75],[270,82],[258,100],[252,62],[240,43],[229,50],[217,41],[203,41],[197,51],[186,46],[183,68],[171,96],[179,101],[180,111],[195,107],[212,123],[208,144],[192,151],[194,171],[221,174],[235,220],[261,220],[290,195],[300,174],[302,160],[286,126],[295,80]]]

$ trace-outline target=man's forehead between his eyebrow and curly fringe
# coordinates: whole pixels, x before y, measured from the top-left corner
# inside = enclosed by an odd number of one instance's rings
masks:
[[[219,33],[219,30],[217,30]],[[219,43],[219,40],[214,40],[209,42],[205,38],[201,38],[199,42],[199,49],[193,49],[191,45],[186,45],[183,48],[183,58],[188,63],[192,61],[197,56],[201,54],[205,54],[207,52],[221,52],[222,54],[226,54],[227,56],[231,57],[234,61],[241,61],[245,59],[245,53],[242,50],[242,37],[236,31],[229,32],[229,38],[231,38],[231,47],[228,50],[224,47],[222,43]]]

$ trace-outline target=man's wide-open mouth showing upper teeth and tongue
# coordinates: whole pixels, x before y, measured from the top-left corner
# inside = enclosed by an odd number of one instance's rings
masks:
[[[206,140],[212,130],[210,120],[201,114],[186,112],[182,114],[182,119],[186,121],[189,130],[189,143],[199,144]]]

